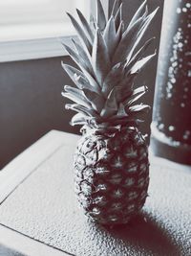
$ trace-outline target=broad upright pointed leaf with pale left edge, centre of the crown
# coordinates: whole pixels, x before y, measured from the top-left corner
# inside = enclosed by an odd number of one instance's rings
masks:
[[[101,86],[102,82],[106,78],[111,68],[111,62],[109,58],[107,45],[99,29],[96,30],[95,41],[93,45],[92,61],[93,68],[96,73],[96,80]]]

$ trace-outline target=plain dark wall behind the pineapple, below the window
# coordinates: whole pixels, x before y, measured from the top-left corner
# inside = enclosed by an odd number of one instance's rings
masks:
[[[141,1],[124,0],[126,20],[136,11]],[[148,36],[155,35],[155,48],[159,49],[159,33],[163,0],[148,0],[149,10],[160,6]],[[152,52],[152,48],[151,51]],[[71,84],[61,68],[60,61],[71,62],[70,58],[44,58],[14,61],[0,64],[0,169],[15,155],[24,151],[34,141],[51,129],[77,132],[69,121],[71,111],[64,110],[65,100],[61,97],[64,84]],[[138,85],[147,84],[150,92],[145,102],[152,105],[157,58],[147,66],[138,78]],[[149,132],[150,112],[145,125]]]

